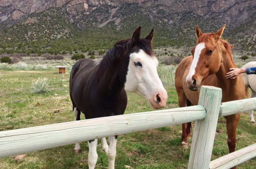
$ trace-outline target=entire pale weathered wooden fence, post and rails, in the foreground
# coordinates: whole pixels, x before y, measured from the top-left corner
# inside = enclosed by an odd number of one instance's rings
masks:
[[[188,168],[230,168],[255,157],[256,144],[211,162],[218,117],[256,109],[256,98],[220,101],[220,88],[202,86],[198,106],[1,131],[0,157],[196,121]]]

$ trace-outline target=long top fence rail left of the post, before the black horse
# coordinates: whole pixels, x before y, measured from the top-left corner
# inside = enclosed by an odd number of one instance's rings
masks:
[[[204,119],[202,106],[71,121],[0,132],[0,157]]]

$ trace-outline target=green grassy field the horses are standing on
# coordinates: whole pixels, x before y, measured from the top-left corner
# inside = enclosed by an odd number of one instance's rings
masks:
[[[159,76],[168,92],[166,108],[178,107],[178,96],[173,86],[173,66],[160,66]],[[0,70],[0,131],[73,121],[69,99],[69,75],[53,70]],[[70,72],[70,70],[68,70]],[[168,73],[167,73],[168,72]],[[38,77],[49,79],[49,91],[31,93],[32,81]],[[128,93],[125,114],[151,111],[147,101]],[[84,119],[84,117],[82,117]],[[83,133],[81,133],[83,134]],[[256,124],[249,123],[249,113],[242,113],[237,129],[236,150],[255,143]],[[183,149],[181,125],[168,126],[118,136],[116,169],[125,165],[136,169],[185,169],[190,149]],[[81,143],[82,152],[74,153],[74,145],[27,153],[21,160],[15,156],[0,158],[1,169],[88,168],[88,145]],[[228,154],[225,119],[220,118],[215,136],[212,159]],[[98,141],[96,168],[107,168],[108,157]],[[256,158],[239,165],[239,169],[254,169]]]

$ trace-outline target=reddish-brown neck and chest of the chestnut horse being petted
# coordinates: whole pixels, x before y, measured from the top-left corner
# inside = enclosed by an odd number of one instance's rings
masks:
[[[228,73],[230,68],[237,68],[236,64],[233,62],[232,56],[228,54],[227,51],[222,51],[222,63],[220,64],[220,69],[216,73],[217,77],[217,87],[220,87],[222,89],[223,99],[224,98],[232,98],[234,99],[240,99],[240,90],[241,90],[241,81],[242,77],[238,76],[236,79],[226,79],[225,75]],[[243,89],[242,89],[243,90]],[[234,92],[239,91],[239,92]],[[243,93],[243,91],[241,92]],[[233,96],[234,95],[234,96]],[[238,97],[238,98],[237,98]],[[244,97],[244,96],[241,96]],[[242,98],[243,99],[243,98]],[[228,100],[229,101],[229,100]]]

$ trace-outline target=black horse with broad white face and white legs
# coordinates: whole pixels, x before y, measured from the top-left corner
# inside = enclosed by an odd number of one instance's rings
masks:
[[[124,114],[127,105],[126,91],[136,92],[147,99],[154,109],[164,107],[167,100],[157,74],[158,61],[152,50],[152,30],[145,39],[140,39],[138,27],[132,39],[117,42],[109,49],[100,63],[91,59],[76,62],[70,75],[70,98],[75,120],[80,113],[86,119]],[[125,90],[124,90],[125,89]],[[109,147],[102,138],[102,149],[107,152],[109,169],[114,169],[117,136],[109,137]],[[97,162],[97,139],[88,142],[89,169]],[[80,150],[76,143],[75,151]]]

